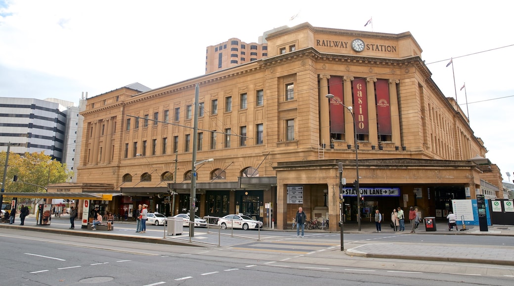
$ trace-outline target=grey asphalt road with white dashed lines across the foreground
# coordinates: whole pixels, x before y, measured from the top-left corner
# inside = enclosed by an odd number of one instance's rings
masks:
[[[198,248],[2,229],[1,249],[9,260],[0,268],[1,284],[511,285],[514,282],[514,276],[508,276],[514,272],[512,267],[351,257],[337,249],[337,241],[330,242],[334,240],[331,234],[311,235],[314,240],[308,241],[291,233],[265,232],[264,235],[275,235],[277,239]],[[357,236],[363,240],[376,235]],[[277,244],[282,244],[282,249],[277,249]],[[291,251],[291,246],[309,252],[300,254],[301,251]],[[484,274],[477,276],[479,270]]]

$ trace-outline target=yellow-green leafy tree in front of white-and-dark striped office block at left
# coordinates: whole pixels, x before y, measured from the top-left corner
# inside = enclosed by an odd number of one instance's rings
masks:
[[[5,166],[5,151],[0,153],[0,166]],[[57,160],[52,160],[44,152],[25,153],[23,156],[10,152],[7,168],[5,192],[46,192],[42,187],[47,187],[51,183],[66,182],[67,178],[73,175],[72,171],[67,171],[66,164]],[[2,168],[2,178],[4,175]],[[13,182],[14,175],[17,176]],[[23,183],[23,182],[27,182]],[[29,185],[32,184],[32,185]],[[37,186],[33,186],[37,185]],[[42,187],[38,187],[42,186]],[[4,194],[8,196],[8,194]]]

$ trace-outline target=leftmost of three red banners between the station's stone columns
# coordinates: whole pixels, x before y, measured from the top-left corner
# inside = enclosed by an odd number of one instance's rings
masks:
[[[343,103],[343,79],[339,76],[331,76],[328,79],[328,92],[334,95],[334,98],[328,101],[330,133],[344,134],[344,106],[340,104]]]

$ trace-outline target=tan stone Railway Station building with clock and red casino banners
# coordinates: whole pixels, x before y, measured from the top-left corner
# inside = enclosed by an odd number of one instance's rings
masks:
[[[232,50],[240,41],[229,42],[209,47],[207,63],[241,51]],[[482,190],[503,197],[500,170],[455,99],[432,80],[409,32],[304,23],[269,33],[266,42],[267,55],[255,60],[207,64],[207,74],[158,89],[88,98],[77,182],[110,184],[119,193],[107,206],[115,213],[145,202],[176,214],[188,212],[195,176],[197,215],[243,213],[272,218],[279,229],[299,206],[309,218],[339,221],[340,176],[348,222],[357,206],[365,220],[375,209],[410,206],[442,217],[451,199]],[[196,172],[193,146],[196,162],[214,159]],[[360,200],[351,186],[357,178]]]

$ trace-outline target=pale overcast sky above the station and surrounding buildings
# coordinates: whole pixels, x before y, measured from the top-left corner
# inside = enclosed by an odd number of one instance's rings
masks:
[[[0,0],[0,97],[78,103],[82,92],[166,86],[205,74],[207,46],[232,37],[258,42],[284,25],[410,31],[439,89],[448,97],[456,89],[486,157],[512,180],[514,22],[506,2],[486,3]],[[452,57],[456,88],[446,67]]]

